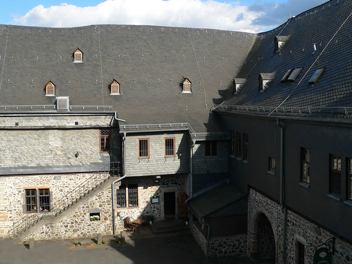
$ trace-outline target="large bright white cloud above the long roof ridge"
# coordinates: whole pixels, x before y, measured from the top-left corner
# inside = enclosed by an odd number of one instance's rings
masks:
[[[74,27],[92,24],[132,24],[200,27],[258,32],[252,21],[262,12],[250,11],[238,2],[213,0],[106,0],[96,6],[38,5],[11,24]]]

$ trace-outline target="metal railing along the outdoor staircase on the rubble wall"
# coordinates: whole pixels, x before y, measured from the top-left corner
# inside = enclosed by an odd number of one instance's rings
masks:
[[[56,216],[62,214],[65,210],[73,206],[76,202],[80,201],[95,188],[98,188],[107,179],[115,176],[120,176],[120,162],[111,162],[100,171],[90,176],[80,185],[53,203],[48,212],[28,213],[17,222],[14,222],[12,228],[7,232],[9,237],[11,239],[17,238],[20,234],[37,224],[40,220],[54,219]]]

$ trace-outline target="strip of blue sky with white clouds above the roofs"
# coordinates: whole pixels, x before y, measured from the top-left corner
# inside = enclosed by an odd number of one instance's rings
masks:
[[[72,27],[137,24],[260,32],[324,0],[31,0],[3,1],[0,24]],[[65,4],[63,4],[65,3]],[[187,6],[185,9],[184,7]],[[180,15],[187,10],[187,15]],[[79,14],[78,17],[76,14]],[[152,15],[151,15],[152,14]]]

